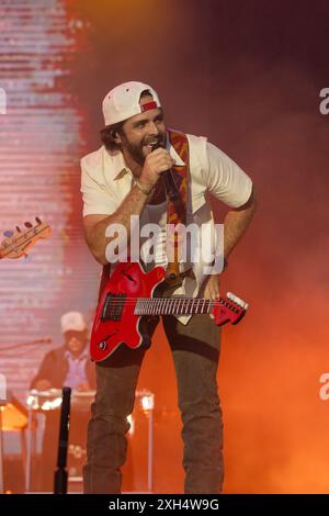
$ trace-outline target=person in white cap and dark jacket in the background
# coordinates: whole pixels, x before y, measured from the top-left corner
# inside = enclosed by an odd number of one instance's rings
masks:
[[[60,317],[60,327],[64,345],[46,354],[30,389],[47,391],[70,386],[73,391],[79,392],[94,390],[94,367],[89,360],[88,327],[82,314],[80,312],[64,314]],[[84,457],[89,410],[88,399],[82,400],[77,407],[71,404],[68,471],[70,472],[70,463],[75,464],[71,468],[73,475],[82,468],[79,462]],[[42,491],[53,491],[58,449],[59,410],[48,411],[45,416],[41,489]],[[77,457],[80,461],[75,460]]]

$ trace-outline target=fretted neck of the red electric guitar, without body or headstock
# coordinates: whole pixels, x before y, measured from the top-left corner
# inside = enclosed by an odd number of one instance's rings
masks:
[[[214,301],[203,298],[139,299],[136,303],[135,315],[208,314],[212,312]],[[224,303],[222,298],[216,301]]]

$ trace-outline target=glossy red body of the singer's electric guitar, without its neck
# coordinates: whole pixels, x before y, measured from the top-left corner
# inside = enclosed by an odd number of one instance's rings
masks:
[[[163,279],[162,267],[146,273],[138,262],[116,266],[102,292],[92,326],[90,351],[93,360],[105,360],[121,344],[133,349],[148,344],[145,341],[147,335],[143,333],[145,317],[135,315],[134,310],[138,298],[152,298]]]

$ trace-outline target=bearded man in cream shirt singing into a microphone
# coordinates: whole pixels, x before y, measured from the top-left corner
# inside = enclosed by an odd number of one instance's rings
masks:
[[[104,266],[102,284],[111,274],[106,246],[114,237],[106,236],[107,227],[121,224],[129,237],[132,216],[139,217],[140,228],[148,223],[157,224],[161,231],[154,246],[151,266],[169,268],[172,260],[166,254],[166,223],[193,223],[200,228],[204,224],[213,225],[207,194],[228,207],[223,249],[226,267],[256,210],[251,179],[206,138],[167,128],[159,97],[150,86],[135,81],[117,86],[106,94],[103,114],[103,146],[81,160],[84,234],[92,255]],[[171,169],[179,170],[184,178],[177,188],[182,198],[185,193],[186,202],[177,213],[163,181],[163,172]],[[140,238],[140,256],[149,263],[147,239]],[[174,259],[178,277],[168,283],[166,298],[219,296],[218,271],[209,273],[202,258],[193,261],[186,257],[179,263]],[[183,422],[184,492],[219,493],[223,423],[216,372],[220,330],[207,314],[163,315],[162,322],[174,361]],[[152,330],[150,325],[150,337]],[[125,434],[129,428],[127,416],[133,412],[145,352],[145,346],[131,349],[122,345],[97,363],[98,389],[88,428],[84,467],[86,493],[121,492]]]

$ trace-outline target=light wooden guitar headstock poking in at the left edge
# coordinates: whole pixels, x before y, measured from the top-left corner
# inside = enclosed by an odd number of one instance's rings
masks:
[[[48,238],[50,235],[50,227],[48,224],[42,222],[37,216],[35,217],[36,224],[25,222],[26,229],[21,229],[15,226],[14,231],[4,232],[4,240],[0,244],[0,259],[11,258],[16,259],[22,256],[27,256],[27,250],[31,249],[38,239]]]

